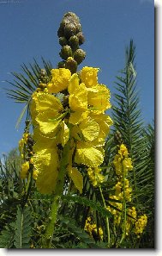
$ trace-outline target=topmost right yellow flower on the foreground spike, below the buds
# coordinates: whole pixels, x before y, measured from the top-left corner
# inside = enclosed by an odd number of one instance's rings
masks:
[[[93,87],[98,84],[98,72],[99,68],[85,66],[81,70],[81,81],[86,84],[87,87]]]

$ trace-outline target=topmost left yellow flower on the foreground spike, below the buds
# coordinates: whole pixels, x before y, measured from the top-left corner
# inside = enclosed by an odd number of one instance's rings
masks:
[[[71,72],[66,68],[52,69],[51,82],[47,84],[49,93],[57,93],[68,88]]]

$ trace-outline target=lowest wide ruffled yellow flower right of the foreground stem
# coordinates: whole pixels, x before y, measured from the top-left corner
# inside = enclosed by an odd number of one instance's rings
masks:
[[[104,149],[93,147],[90,142],[79,141],[76,144],[75,163],[97,167],[104,161]]]

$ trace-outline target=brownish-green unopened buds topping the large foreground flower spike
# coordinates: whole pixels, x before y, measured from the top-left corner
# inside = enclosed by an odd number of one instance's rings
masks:
[[[85,59],[86,53],[80,48],[84,35],[81,31],[81,23],[75,13],[68,12],[58,28],[59,44],[62,46],[60,57],[63,61],[58,63],[58,68],[65,67],[75,73],[77,66]]]

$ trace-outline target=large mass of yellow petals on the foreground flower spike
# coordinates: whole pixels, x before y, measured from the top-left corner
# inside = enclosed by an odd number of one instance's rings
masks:
[[[42,193],[55,190],[62,150],[69,140],[73,145],[67,171],[75,187],[81,192],[82,176],[76,164],[93,168],[98,183],[102,182],[102,175],[96,170],[104,161],[103,146],[112,121],[105,115],[111,108],[110,91],[98,83],[98,72],[98,68],[88,66],[82,68],[80,75],[71,75],[65,68],[52,69],[48,91],[33,93],[33,172]],[[61,100],[57,98],[59,92],[64,93]]]

